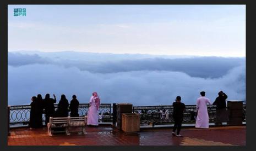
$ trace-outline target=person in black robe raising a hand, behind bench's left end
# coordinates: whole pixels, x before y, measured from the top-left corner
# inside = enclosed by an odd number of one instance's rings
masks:
[[[49,122],[50,117],[53,117],[55,114],[54,103],[56,103],[56,96],[53,94],[53,98],[50,98],[50,94],[45,95],[45,99],[43,99],[43,104],[45,108],[45,125]]]

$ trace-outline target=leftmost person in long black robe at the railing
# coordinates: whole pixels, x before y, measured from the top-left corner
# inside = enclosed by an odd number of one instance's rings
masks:
[[[37,100],[36,96],[31,98],[31,109],[30,109],[30,117],[29,117],[29,127],[30,128],[39,128],[40,125],[40,102]]]

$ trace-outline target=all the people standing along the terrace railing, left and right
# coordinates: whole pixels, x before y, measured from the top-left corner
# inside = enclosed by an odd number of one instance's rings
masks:
[[[200,92],[201,97],[197,99],[196,102],[196,128],[209,128],[209,115],[207,104],[211,104],[209,98],[205,97],[205,92]],[[216,105],[216,124],[221,124],[223,121],[227,121],[226,113],[226,98],[227,95],[220,91],[214,101]],[[42,127],[42,114],[45,112],[46,125],[50,117],[68,117],[68,112],[70,110],[70,117],[78,117],[78,107],[79,101],[75,95],[72,96],[70,101],[70,106],[65,95],[61,95],[61,100],[59,100],[57,111],[55,111],[54,103],[56,103],[56,96],[53,94],[53,98],[50,98],[50,94],[46,94],[45,99],[39,94],[37,97],[33,96],[31,98],[31,111],[30,111],[30,127]],[[172,134],[175,136],[181,136],[179,134],[181,130],[181,125],[183,121],[183,114],[186,109],[184,103],[181,102],[181,96],[176,97],[176,101],[173,102],[173,112],[172,117],[175,121]],[[99,116],[98,111],[100,107],[100,97],[97,92],[93,92],[89,101],[89,111],[87,118],[87,125],[98,125]],[[162,117],[163,118],[163,117]],[[177,130],[177,133],[175,134]]]

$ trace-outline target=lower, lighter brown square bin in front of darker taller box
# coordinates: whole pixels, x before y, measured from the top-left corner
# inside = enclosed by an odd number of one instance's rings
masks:
[[[126,133],[137,133],[140,131],[140,116],[138,113],[122,114],[122,130]]]

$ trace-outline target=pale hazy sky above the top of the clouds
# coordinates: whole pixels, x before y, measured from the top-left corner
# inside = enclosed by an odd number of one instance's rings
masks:
[[[244,57],[246,5],[8,5],[19,50]]]

